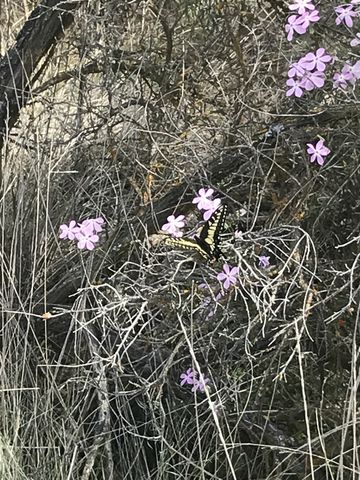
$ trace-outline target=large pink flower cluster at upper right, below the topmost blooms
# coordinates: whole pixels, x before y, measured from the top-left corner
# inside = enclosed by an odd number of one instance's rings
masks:
[[[293,63],[288,71],[289,79],[286,84],[290,88],[286,96],[301,97],[304,90],[310,91],[323,87],[326,64],[332,60],[332,56],[327,54],[324,48],[318,48],[316,52],[309,52]]]

